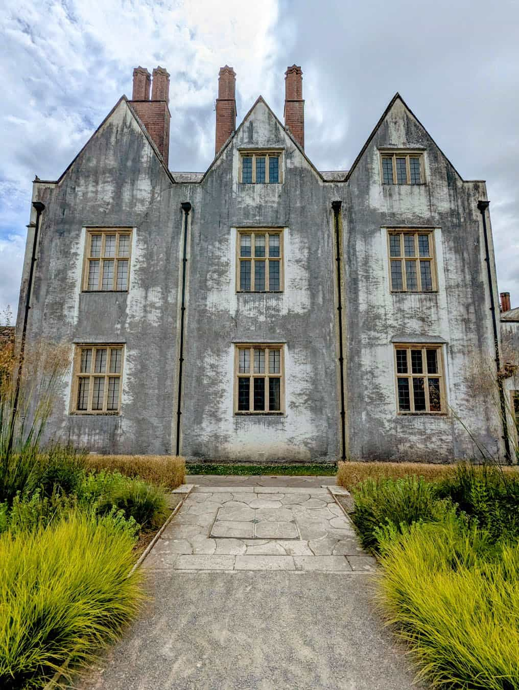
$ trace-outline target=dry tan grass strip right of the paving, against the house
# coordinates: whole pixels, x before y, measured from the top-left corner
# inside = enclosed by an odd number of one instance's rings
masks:
[[[426,482],[437,482],[454,473],[456,464],[440,465],[428,462],[339,462],[337,484],[345,489],[352,489],[358,482],[370,477],[377,480],[381,477],[400,479],[416,475]],[[502,467],[503,471],[517,473],[516,467]]]

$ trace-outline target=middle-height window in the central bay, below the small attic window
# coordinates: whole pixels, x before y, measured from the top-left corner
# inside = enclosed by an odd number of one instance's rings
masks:
[[[283,290],[283,230],[238,230],[238,292]]]

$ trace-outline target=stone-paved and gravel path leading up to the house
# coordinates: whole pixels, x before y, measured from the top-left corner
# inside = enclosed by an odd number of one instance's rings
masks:
[[[269,479],[194,488],[143,563],[152,601],[81,688],[411,690],[344,490]]]

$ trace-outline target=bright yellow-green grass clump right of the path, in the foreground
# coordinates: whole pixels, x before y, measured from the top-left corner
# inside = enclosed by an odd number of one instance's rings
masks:
[[[434,686],[519,687],[519,545],[449,515],[379,531],[380,602]]]

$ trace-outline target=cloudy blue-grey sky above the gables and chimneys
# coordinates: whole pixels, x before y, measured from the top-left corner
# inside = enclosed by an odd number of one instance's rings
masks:
[[[306,152],[348,168],[396,91],[465,179],[486,179],[500,291],[519,304],[519,0],[4,0],[0,8],[0,313],[16,311],[31,181],[57,179],[132,69],[171,74],[170,167],[214,154],[218,68],[238,121],[283,117],[303,67]]]

